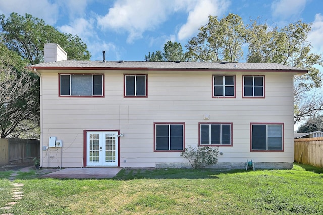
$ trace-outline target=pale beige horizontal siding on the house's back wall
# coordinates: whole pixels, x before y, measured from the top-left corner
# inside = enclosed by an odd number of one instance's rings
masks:
[[[73,73],[62,71],[65,72]],[[220,147],[223,155],[219,155],[219,163],[242,163],[246,159],[293,162],[291,73],[219,72],[235,75],[236,98],[212,98],[212,75],[216,72],[165,71],[148,72],[147,98],[124,98],[124,73],[105,73],[104,98],[59,97],[58,73],[42,73],[42,145],[48,146],[50,136],[63,141],[62,148],[42,152],[44,167],[57,167],[61,162],[62,167],[80,167],[84,156],[83,130],[120,130],[124,134],[119,142],[121,167],[186,162],[180,152],[153,151],[155,122],[184,122],[185,147],[197,146],[199,122],[233,123],[233,146]],[[265,98],[242,98],[242,75],[265,75]],[[205,114],[209,115],[208,120],[204,119]],[[284,123],[284,152],[250,152],[250,122]]]

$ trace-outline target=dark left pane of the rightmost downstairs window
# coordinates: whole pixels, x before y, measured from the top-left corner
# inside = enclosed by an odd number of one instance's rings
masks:
[[[267,126],[252,125],[252,150],[266,150]]]

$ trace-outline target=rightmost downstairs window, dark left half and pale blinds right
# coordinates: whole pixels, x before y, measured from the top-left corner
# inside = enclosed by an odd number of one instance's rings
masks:
[[[282,151],[283,124],[252,124],[251,150]]]

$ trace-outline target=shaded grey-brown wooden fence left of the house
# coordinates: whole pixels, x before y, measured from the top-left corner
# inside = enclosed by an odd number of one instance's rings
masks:
[[[29,162],[40,156],[40,141],[29,139],[0,139],[0,165]]]

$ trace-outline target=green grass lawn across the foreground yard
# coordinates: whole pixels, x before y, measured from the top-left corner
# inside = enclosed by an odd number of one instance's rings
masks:
[[[1,175],[0,175],[1,177]],[[29,176],[30,178],[30,176]],[[323,169],[122,170],[114,179],[17,179],[13,214],[322,214]],[[0,179],[0,207],[10,201]]]

